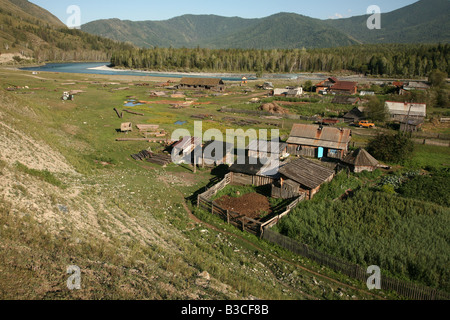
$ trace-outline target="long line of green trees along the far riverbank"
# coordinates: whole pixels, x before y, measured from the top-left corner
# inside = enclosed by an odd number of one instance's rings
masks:
[[[377,44],[329,49],[152,48],[112,53],[116,67],[160,71],[295,73],[352,71],[374,76],[450,73],[450,45]]]

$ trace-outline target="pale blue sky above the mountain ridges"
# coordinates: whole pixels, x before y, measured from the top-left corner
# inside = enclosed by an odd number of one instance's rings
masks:
[[[183,14],[215,14],[225,17],[262,18],[279,12],[294,12],[318,19],[347,18],[364,15],[371,5],[390,12],[418,0],[30,0],[47,9],[62,22],[71,16],[67,8],[77,5],[81,24],[98,19],[166,20]]]

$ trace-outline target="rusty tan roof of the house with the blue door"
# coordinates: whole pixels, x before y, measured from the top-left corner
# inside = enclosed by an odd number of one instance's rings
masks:
[[[288,144],[347,150],[351,130],[317,125],[294,124]]]

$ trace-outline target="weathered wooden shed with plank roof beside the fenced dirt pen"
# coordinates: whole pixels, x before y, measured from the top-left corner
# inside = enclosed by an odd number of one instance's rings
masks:
[[[272,197],[291,199],[305,194],[312,199],[320,187],[331,182],[335,171],[303,157],[279,169],[280,178],[272,184]]]

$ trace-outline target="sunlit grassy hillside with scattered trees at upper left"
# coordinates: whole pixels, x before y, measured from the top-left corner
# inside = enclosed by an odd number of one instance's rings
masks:
[[[132,46],[67,28],[26,0],[0,0],[0,63],[29,60],[106,61],[112,50]]]

